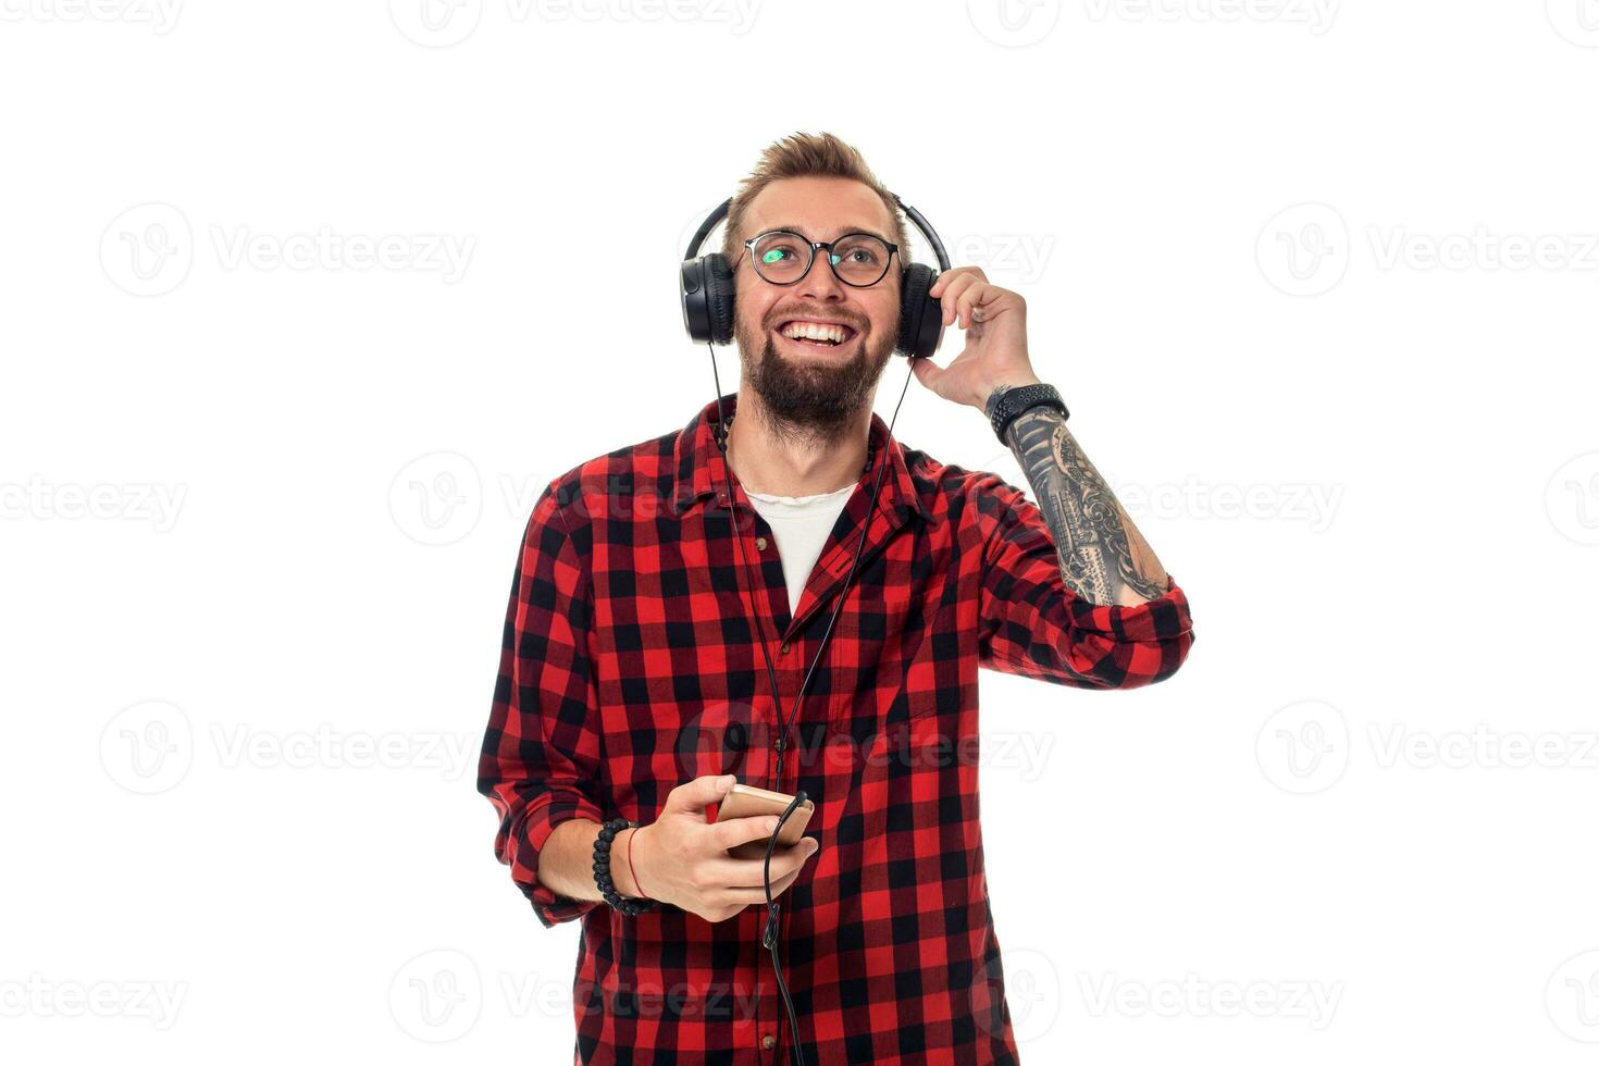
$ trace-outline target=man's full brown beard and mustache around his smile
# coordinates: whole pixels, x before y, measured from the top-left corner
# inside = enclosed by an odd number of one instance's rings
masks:
[[[750,323],[737,315],[734,336],[739,340],[739,364],[744,380],[761,398],[761,408],[779,435],[795,435],[827,441],[846,430],[883,377],[883,368],[894,355],[897,336],[878,337],[867,320],[851,320],[855,329],[855,355],[843,363],[827,358],[798,360],[785,355],[772,340],[772,328],[803,312],[768,315],[768,323]],[[822,350],[825,352],[825,348]]]

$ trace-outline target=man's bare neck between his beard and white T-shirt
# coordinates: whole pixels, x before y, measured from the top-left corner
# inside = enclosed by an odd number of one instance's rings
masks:
[[[755,393],[739,388],[728,427],[728,467],[747,491],[769,495],[815,495],[860,481],[871,433],[871,404],[836,435],[777,425]]]

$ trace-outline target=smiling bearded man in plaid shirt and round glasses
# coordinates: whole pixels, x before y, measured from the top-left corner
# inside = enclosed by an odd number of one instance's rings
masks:
[[[895,243],[894,268],[868,284],[851,233]],[[812,256],[814,241],[836,245]],[[804,790],[806,837],[776,849],[771,887],[806,1063],[1015,1063],[979,825],[977,670],[1162,681],[1193,642],[1188,603],[1057,408],[1006,433],[1036,505],[887,435],[871,401],[908,241],[854,149],[772,144],[724,248],[744,371],[721,398],[726,462],[710,403],[569,470],[534,507],[480,764],[496,853],[545,925],[582,919],[579,1061],[788,1061],[768,913],[750,906],[766,901],[764,863],[726,850],[771,820],[707,807],[734,778]],[[931,296],[964,348],[916,361],[924,387],[990,414],[1039,384],[1019,294],[961,267]],[[614,818],[640,825],[609,845],[614,892],[654,901],[636,914],[601,901],[593,869]],[[1051,885],[1033,889],[1047,906]]]

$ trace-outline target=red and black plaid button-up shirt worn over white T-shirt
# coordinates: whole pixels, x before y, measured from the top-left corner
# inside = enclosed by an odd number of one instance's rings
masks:
[[[715,419],[713,401],[681,432],[550,483],[512,587],[478,790],[500,815],[496,853],[539,919],[582,919],[577,1061],[788,1061],[763,905],[724,922],[668,905],[625,917],[537,879],[561,821],[648,825],[676,785],[731,772],[815,801],[806,833],[820,852],[779,897],[806,1061],[1015,1063],[979,825],[977,668],[1151,684],[1188,654],[1188,601],[1175,583],[1134,607],[1083,601],[1020,489],[891,441],[873,414],[878,455],[889,444],[881,502],[779,780],[750,595],[792,718],[876,470],[790,617],[771,527],[736,481],[728,505]]]

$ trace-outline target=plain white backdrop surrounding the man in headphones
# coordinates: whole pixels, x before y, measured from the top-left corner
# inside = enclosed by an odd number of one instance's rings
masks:
[[[676,259],[795,129],[1023,292],[1194,607],[983,676],[1023,1061],[1593,1061],[1593,0],[173,2],[0,0],[8,1061],[566,1061],[515,551],[712,398]]]

